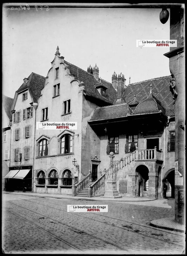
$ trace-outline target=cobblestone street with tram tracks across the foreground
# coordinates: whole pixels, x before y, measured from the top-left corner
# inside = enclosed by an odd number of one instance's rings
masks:
[[[88,201],[3,194],[5,254],[182,254],[185,234],[151,227],[172,217],[174,199]],[[68,204],[108,205],[108,212],[67,212]]]

